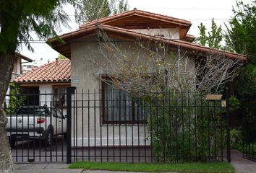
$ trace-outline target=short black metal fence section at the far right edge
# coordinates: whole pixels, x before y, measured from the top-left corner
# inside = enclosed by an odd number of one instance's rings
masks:
[[[243,100],[242,121],[243,156],[256,161],[256,98]]]

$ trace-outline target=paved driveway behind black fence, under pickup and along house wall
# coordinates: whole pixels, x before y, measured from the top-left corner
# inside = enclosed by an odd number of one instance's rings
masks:
[[[12,147],[15,163],[26,162],[67,162],[67,141],[59,136],[53,139],[52,146],[46,146],[43,141],[20,141]],[[152,162],[149,147],[79,147],[72,148],[72,161],[118,161],[118,162]]]

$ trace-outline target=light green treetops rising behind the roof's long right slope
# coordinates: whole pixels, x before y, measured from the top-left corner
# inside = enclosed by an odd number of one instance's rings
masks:
[[[208,35],[206,35],[206,27],[202,23],[200,23],[198,29],[200,30],[200,37],[195,39],[197,43],[200,43],[200,45],[208,45],[210,48],[223,48],[221,45],[221,41],[223,40],[221,25],[217,26],[214,19],[212,19],[211,31],[208,32]]]

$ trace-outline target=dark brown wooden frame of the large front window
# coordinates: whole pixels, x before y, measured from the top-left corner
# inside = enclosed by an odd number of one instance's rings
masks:
[[[104,125],[104,124],[112,124],[112,125],[120,125],[120,124],[137,124],[137,125],[144,125],[147,123],[147,120],[135,120],[135,101],[134,100],[131,100],[132,101],[132,120],[107,120],[108,119],[108,111],[105,111],[107,109],[107,107],[105,106],[105,85],[106,85],[106,82],[103,80],[103,79],[111,79],[110,76],[108,75],[102,75],[101,76],[101,123]],[[145,119],[145,115],[143,116]]]

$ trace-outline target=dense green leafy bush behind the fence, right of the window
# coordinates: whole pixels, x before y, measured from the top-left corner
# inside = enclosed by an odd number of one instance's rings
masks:
[[[148,130],[158,161],[216,161],[225,143],[221,102],[200,94],[154,94],[146,99]]]

